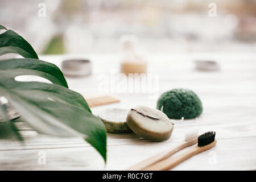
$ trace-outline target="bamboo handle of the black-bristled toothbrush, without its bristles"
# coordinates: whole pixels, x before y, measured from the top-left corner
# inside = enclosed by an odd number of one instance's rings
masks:
[[[151,166],[144,168],[143,170],[146,170],[146,171],[169,170],[169,169],[175,167],[177,164],[183,162],[184,160],[191,158],[191,156],[196,155],[200,152],[203,152],[205,150],[208,150],[209,148],[214,147],[216,143],[217,143],[217,140],[214,140],[214,142],[208,144],[207,146],[204,146],[204,147],[196,146],[196,147],[192,148],[191,150],[184,152],[183,154],[175,156],[174,158],[168,158],[166,160],[162,160],[158,163],[152,164]]]

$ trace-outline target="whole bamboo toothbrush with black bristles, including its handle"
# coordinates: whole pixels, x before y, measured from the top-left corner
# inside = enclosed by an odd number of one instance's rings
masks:
[[[143,170],[148,170],[148,171],[169,170],[175,167],[177,164],[183,162],[184,160],[191,158],[191,156],[214,147],[216,143],[217,143],[217,140],[215,139],[215,132],[209,131],[198,137],[198,145],[192,148],[191,150],[186,151],[183,154],[180,154],[178,156],[175,156],[174,158],[168,158],[166,160],[162,160],[158,163],[153,164],[152,166],[144,168]]]

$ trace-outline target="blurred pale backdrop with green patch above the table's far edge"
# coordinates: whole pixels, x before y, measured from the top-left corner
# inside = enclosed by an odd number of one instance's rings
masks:
[[[123,35],[152,53],[254,52],[255,10],[254,0],[1,0],[0,24],[40,54],[115,53]]]

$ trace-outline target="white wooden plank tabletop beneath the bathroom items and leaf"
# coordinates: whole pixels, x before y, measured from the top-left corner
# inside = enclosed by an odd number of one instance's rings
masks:
[[[117,55],[83,55],[92,60],[93,75],[68,78],[69,88],[84,95],[98,92],[98,76],[118,72]],[[40,56],[60,65],[67,56]],[[199,72],[193,60],[216,60],[219,72]],[[173,170],[256,169],[256,54],[202,53],[149,55],[148,72],[159,74],[159,94],[173,88],[194,90],[203,102],[203,114],[192,121],[176,124],[170,139],[148,142],[135,134],[108,134],[108,162],[81,138],[53,138],[22,129],[26,146],[1,140],[0,170],[122,170],[150,155],[178,144],[191,126],[201,133],[216,131],[217,145],[193,156]],[[121,102],[93,107],[94,114],[107,107],[146,105],[156,107],[148,94],[114,94]],[[74,121],[75,122],[75,121]],[[23,123],[19,123],[20,129]],[[46,152],[46,164],[38,164],[38,152]]]

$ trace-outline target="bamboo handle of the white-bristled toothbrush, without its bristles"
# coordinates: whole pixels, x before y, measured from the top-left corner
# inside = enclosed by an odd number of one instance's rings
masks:
[[[143,170],[147,166],[150,166],[151,164],[159,162],[160,160],[167,159],[171,155],[173,155],[175,152],[177,152],[185,147],[191,146],[192,144],[195,144],[195,143],[197,143],[197,138],[193,139],[189,142],[183,142],[183,143],[179,144],[179,146],[176,146],[175,148],[173,148],[172,150],[166,150],[166,151],[160,152],[156,155],[153,155],[150,158],[142,160],[141,162],[135,164],[134,166],[127,168],[126,170],[127,171]]]

